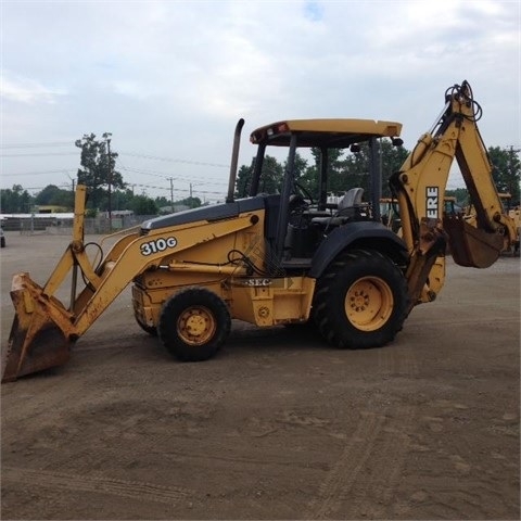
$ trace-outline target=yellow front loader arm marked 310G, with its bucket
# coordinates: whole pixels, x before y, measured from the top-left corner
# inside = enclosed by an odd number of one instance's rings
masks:
[[[2,382],[64,364],[72,344],[80,338],[123,290],[145,270],[168,269],[182,251],[254,226],[249,213],[233,219],[200,220],[150,230],[128,231],[94,267],[84,243],[86,190],[76,191],[73,241],[43,287],[29,274],[13,277],[11,298],[15,317],[8,348],[2,353]],[[241,271],[240,267],[236,270]],[[71,276],[71,303],[56,296]],[[78,275],[85,287],[77,293]],[[67,279],[68,280],[68,279]]]

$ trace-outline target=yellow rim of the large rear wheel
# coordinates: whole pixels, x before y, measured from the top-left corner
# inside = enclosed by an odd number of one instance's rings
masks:
[[[393,313],[393,292],[379,277],[358,279],[345,295],[345,314],[360,331],[376,331]]]

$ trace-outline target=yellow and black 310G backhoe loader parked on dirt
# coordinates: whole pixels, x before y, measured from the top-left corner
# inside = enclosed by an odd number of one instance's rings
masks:
[[[48,281],[14,276],[15,317],[2,382],[64,364],[79,339],[132,283],[138,325],[175,358],[204,360],[225,343],[231,320],[259,328],[307,323],[340,348],[392,342],[411,309],[433,301],[445,278],[446,242],[461,266],[486,268],[516,229],[501,212],[476,123],[481,107],[467,81],[445,92],[444,107],[390,181],[402,237],[381,221],[381,140],[401,145],[402,125],[371,119],[281,120],[251,134],[256,156],[249,191],[236,195],[243,119],[237,124],[228,194],[221,204],[148,220],[91,263],[84,243],[86,188],[78,186],[72,242]],[[331,149],[370,151],[368,198],[346,190],[328,203]],[[288,150],[281,186],[267,193],[263,162]],[[297,151],[320,151],[316,193],[296,176]],[[456,160],[476,215],[444,215]],[[366,193],[367,194],[367,193]],[[71,280],[71,303],[56,297]],[[79,281],[82,281],[80,284]]]

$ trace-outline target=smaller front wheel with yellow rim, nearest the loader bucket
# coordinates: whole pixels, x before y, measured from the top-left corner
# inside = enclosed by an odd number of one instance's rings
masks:
[[[201,361],[219,351],[231,329],[228,306],[215,293],[190,288],[171,296],[160,316],[160,339],[182,361]]]

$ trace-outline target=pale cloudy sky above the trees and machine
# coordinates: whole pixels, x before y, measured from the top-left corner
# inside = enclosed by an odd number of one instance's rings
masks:
[[[135,193],[223,200],[241,117],[239,165],[287,118],[401,122],[411,150],[462,80],[485,145],[521,149],[519,0],[0,0],[0,188],[72,188],[75,141],[111,132]]]

